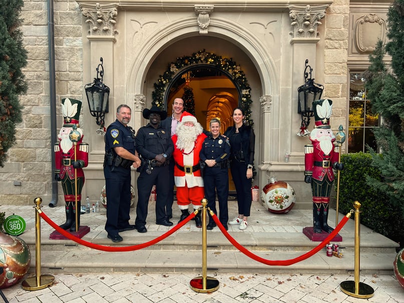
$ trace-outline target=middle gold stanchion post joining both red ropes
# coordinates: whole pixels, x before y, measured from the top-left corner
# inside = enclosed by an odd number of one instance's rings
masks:
[[[206,255],[206,205],[208,200],[202,199],[202,276],[193,278],[190,282],[191,289],[196,292],[213,292],[219,289],[219,281],[216,278],[207,276],[207,255]],[[201,211],[201,209],[197,210]]]

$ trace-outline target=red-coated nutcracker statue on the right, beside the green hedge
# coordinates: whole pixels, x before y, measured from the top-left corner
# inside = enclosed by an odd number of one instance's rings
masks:
[[[304,182],[310,183],[313,195],[314,233],[334,230],[327,224],[333,169],[343,169],[343,164],[338,162],[340,146],[334,143],[335,136],[329,126],[331,109],[331,100],[313,102],[315,128],[310,133],[311,144],[304,146]]]

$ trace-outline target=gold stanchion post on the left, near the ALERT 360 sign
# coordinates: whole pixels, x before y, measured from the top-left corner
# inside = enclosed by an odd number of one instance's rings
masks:
[[[35,269],[36,275],[32,277],[26,278],[21,287],[25,290],[39,290],[46,288],[53,284],[55,281],[55,277],[51,274],[44,274],[41,275],[41,198],[35,198],[34,203],[36,206],[35,208]]]

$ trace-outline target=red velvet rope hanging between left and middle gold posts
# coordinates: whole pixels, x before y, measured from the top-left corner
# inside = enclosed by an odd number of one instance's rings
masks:
[[[185,220],[183,220],[180,223],[178,223],[177,225],[175,225],[173,228],[171,228],[166,233],[162,234],[161,236],[159,236],[151,241],[148,241],[148,242],[145,242],[142,244],[131,245],[131,246],[105,246],[105,245],[94,244],[94,243],[82,240],[78,237],[75,237],[71,233],[60,228],[58,226],[58,224],[56,224],[54,221],[52,221],[42,210],[38,210],[38,212],[39,212],[39,215],[41,216],[41,218],[43,218],[49,225],[51,225],[53,228],[55,228],[56,231],[60,232],[65,237],[75,241],[76,243],[82,244],[84,246],[94,248],[97,250],[103,250],[103,251],[133,251],[133,250],[138,250],[138,249],[142,249],[142,248],[154,245],[154,244],[160,242],[161,240],[165,239],[166,237],[172,235],[174,232],[176,232],[178,229],[180,229],[182,226],[187,224],[190,220],[192,220],[195,217],[195,213],[193,212]]]

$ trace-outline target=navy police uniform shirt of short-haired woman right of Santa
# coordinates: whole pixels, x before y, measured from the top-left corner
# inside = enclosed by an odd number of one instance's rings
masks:
[[[201,160],[215,160],[217,164],[226,160],[230,156],[230,143],[229,141],[219,135],[217,138],[212,136],[205,138],[203,147],[200,153]]]

